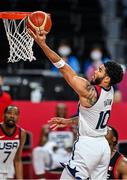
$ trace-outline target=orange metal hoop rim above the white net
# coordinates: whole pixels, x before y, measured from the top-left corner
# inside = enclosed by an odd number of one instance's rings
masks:
[[[18,19],[23,19],[30,14],[31,12],[5,11],[5,12],[0,12],[0,19],[18,20]]]

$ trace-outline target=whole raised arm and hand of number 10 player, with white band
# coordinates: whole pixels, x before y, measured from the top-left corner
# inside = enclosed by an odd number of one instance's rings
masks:
[[[79,97],[87,97],[91,93],[93,93],[93,96],[96,96],[96,92],[94,91],[94,88],[90,86],[90,83],[86,79],[79,77],[57,53],[48,47],[45,42],[47,33],[45,31],[42,31],[41,35],[39,33],[40,32],[37,31],[36,34],[34,34],[31,30],[29,30],[29,34],[42,48],[48,59],[60,70],[64,79],[75,90]]]

